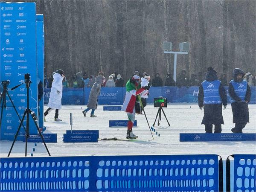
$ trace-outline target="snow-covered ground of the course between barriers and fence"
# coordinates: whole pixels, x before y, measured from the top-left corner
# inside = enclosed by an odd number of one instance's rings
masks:
[[[46,107],[45,107],[46,108]],[[109,120],[127,119],[123,111],[103,111],[103,105],[99,105],[95,111],[97,117],[84,117],[82,109],[86,106],[65,105],[62,106],[59,117],[63,122],[54,122],[54,111],[47,116],[44,133],[57,133],[58,143],[47,143],[52,156],[87,156],[87,155],[143,155],[143,154],[219,154],[225,160],[230,154],[255,154],[255,141],[239,142],[180,142],[180,133],[204,133],[204,125],[201,125],[203,111],[198,105],[170,104],[164,108],[171,126],[169,127],[162,114],[160,126],[155,125],[160,137],[153,132],[152,139],[144,115],[136,115],[138,127],[134,127],[134,134],[140,141],[99,141],[98,143],[63,143],[63,134],[70,130],[70,113],[73,113],[73,130],[99,130],[100,138],[125,138],[126,128],[109,127]],[[147,105],[145,108],[149,124],[152,125],[158,108]],[[256,134],[256,105],[249,105],[250,123],[246,125],[244,133]],[[90,113],[90,111],[89,111]],[[231,133],[233,128],[231,105],[223,111],[224,123],[222,133]],[[7,157],[12,141],[0,141],[0,157]],[[34,143],[28,143],[28,154],[32,152]],[[25,143],[16,141],[12,149],[11,157],[24,157]],[[44,145],[39,143],[33,152],[35,157],[48,156]]]

